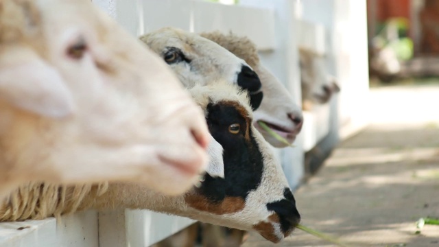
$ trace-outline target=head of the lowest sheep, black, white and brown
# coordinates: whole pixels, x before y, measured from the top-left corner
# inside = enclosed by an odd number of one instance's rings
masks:
[[[300,215],[281,166],[252,125],[246,93],[226,83],[190,91],[224,149],[224,176],[205,174],[201,185],[186,193],[189,209],[184,215],[281,241],[292,233]]]

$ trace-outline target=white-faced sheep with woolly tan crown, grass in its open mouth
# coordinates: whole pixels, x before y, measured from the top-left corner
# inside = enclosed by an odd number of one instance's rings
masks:
[[[261,132],[268,143],[276,148],[285,148],[287,143],[279,141],[261,128],[258,121],[264,122],[274,132],[284,137],[289,144],[293,143],[300,133],[303,124],[302,111],[294,103],[288,90],[277,78],[266,69],[257,53],[257,46],[246,36],[237,34],[223,34],[222,32],[204,32],[200,36],[226,48],[238,58],[244,59],[247,64],[259,75],[262,84],[263,101],[254,111],[254,126]]]

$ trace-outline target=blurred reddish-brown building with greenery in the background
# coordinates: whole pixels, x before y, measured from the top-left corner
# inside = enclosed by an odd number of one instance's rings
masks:
[[[439,75],[439,1],[368,0],[370,74]]]

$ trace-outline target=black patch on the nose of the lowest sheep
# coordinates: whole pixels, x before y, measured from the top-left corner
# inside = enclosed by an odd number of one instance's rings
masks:
[[[281,231],[287,233],[292,227],[296,227],[300,222],[300,214],[296,209],[296,200],[289,188],[283,190],[285,199],[267,204],[268,211],[278,214],[281,223]]]

